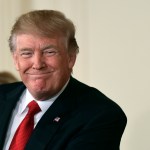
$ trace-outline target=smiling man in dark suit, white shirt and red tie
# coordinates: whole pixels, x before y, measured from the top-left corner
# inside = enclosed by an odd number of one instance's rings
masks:
[[[54,10],[23,14],[9,45],[23,82],[0,86],[0,150],[119,150],[126,116],[71,76],[78,45],[69,19]]]

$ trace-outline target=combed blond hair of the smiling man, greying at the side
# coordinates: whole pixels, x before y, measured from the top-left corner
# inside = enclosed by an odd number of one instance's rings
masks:
[[[56,10],[35,10],[21,15],[13,25],[9,38],[12,52],[16,49],[16,37],[19,34],[37,34],[43,37],[61,35],[67,39],[69,52],[79,52],[74,24]]]

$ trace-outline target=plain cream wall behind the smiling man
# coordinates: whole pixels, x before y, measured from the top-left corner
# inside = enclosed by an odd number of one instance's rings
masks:
[[[15,19],[35,9],[60,10],[74,22],[80,53],[73,76],[125,111],[121,150],[150,150],[150,1],[0,0],[0,71],[18,79],[8,38]]]

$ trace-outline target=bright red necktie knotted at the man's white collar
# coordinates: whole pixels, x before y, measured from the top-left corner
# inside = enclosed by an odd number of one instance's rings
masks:
[[[39,105],[35,101],[31,101],[28,104],[29,111],[21,124],[19,125],[9,150],[24,150],[27,141],[34,128],[34,115],[41,111]]]

